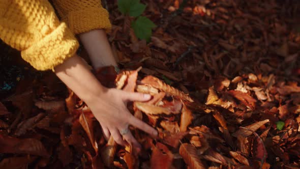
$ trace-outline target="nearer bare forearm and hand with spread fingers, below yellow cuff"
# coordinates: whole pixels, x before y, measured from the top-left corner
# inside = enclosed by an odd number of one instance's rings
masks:
[[[128,125],[157,136],[154,128],[131,115],[126,106],[128,101],[147,101],[150,96],[104,88],[76,54],[62,65],[56,66],[54,71],[91,108],[107,138],[111,134],[120,145],[126,145],[124,138],[135,147],[139,147],[136,139],[128,132]]]

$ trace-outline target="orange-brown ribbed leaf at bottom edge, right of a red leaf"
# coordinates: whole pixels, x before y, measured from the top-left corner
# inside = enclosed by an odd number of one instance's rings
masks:
[[[196,148],[191,145],[184,143],[179,148],[179,154],[184,158],[185,162],[191,168],[206,168],[205,165],[200,160]]]

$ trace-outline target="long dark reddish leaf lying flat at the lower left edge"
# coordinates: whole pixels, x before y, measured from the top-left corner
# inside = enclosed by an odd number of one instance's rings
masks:
[[[43,144],[35,138],[16,138],[0,135],[0,153],[32,154],[49,157]]]

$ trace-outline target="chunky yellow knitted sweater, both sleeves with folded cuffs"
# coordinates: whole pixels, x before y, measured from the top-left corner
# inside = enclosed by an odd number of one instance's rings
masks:
[[[52,69],[78,48],[74,34],[111,29],[100,0],[0,0],[0,39],[38,70]]]

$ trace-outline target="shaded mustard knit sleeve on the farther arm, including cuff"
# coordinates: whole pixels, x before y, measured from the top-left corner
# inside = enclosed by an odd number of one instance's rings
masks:
[[[96,29],[111,30],[108,12],[100,0],[52,0],[58,15],[74,34]]]

